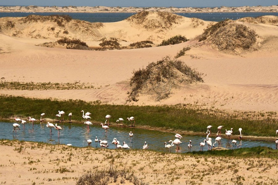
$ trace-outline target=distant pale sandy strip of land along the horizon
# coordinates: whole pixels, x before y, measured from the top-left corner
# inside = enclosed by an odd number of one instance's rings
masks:
[[[137,13],[140,11],[167,11],[171,13],[278,12],[278,6],[277,5],[240,6],[240,7],[0,6],[0,12]]]

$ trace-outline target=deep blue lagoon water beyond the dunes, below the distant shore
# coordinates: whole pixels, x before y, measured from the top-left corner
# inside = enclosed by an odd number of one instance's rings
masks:
[[[0,17],[25,17],[28,15],[70,15],[73,19],[88,21],[88,22],[102,22],[111,23],[122,21],[133,14],[136,13],[27,13],[27,12],[0,12]],[[278,12],[242,12],[242,13],[176,13],[178,15],[189,17],[189,18],[199,18],[204,21],[222,21],[225,19],[240,19],[243,17],[258,17],[263,15],[276,15]]]

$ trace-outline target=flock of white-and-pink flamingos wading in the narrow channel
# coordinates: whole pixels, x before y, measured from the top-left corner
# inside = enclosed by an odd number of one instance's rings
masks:
[[[91,113],[87,112],[87,113],[84,114],[84,111],[83,111],[83,110],[82,110],[81,112],[83,112],[82,117],[83,117],[84,119],[86,119],[86,121],[84,122],[84,124],[87,125],[87,129],[89,130],[89,125],[93,125],[93,124],[91,123],[91,121],[89,121],[89,119],[91,119],[91,117],[90,117],[90,114],[91,114]],[[64,114],[65,114],[64,111],[58,111],[58,114],[56,114],[56,117],[61,117],[61,120],[59,120],[60,122],[61,122],[61,121],[64,121],[64,116],[63,116]],[[42,123],[42,121],[46,120],[46,119],[44,119],[44,116],[45,116],[45,113],[40,114],[40,123]],[[72,113],[69,113],[69,122],[70,122],[70,123],[71,123],[71,117],[72,117]],[[102,128],[105,129],[105,132],[107,132],[107,129],[109,129],[108,125],[109,125],[109,118],[110,118],[110,117],[111,117],[110,115],[106,115],[106,116],[105,116],[105,118],[106,118],[105,125],[103,125],[103,123],[100,124],[100,125],[102,126]],[[34,126],[34,121],[37,121],[35,118],[31,118],[31,117],[28,117],[28,120],[31,121],[31,122],[33,123],[33,126]],[[134,118],[134,117],[128,117],[127,120],[128,120],[128,121],[133,121],[133,126],[135,125],[135,118]],[[19,118],[15,118],[15,121],[17,121],[17,122],[21,121],[21,124],[23,124],[23,128],[25,127],[25,123],[26,123],[25,120],[21,120],[21,119],[19,119]],[[123,118],[119,118],[116,122],[120,122],[120,123],[122,124],[123,121],[124,121]],[[106,122],[107,122],[107,123],[106,123]],[[15,133],[16,133],[16,130],[20,130],[19,126],[20,126],[20,125],[19,125],[18,123],[14,123],[14,124],[13,124],[13,133],[14,133],[14,131],[15,131]],[[60,130],[62,130],[62,127],[61,127],[61,126],[58,126],[57,123],[56,123],[55,125],[53,125],[52,123],[49,123],[49,122],[47,122],[47,125],[46,125],[46,126],[47,126],[48,128],[50,128],[50,134],[52,134],[52,128],[55,128],[56,130],[58,130],[58,137],[59,137]],[[212,128],[212,127],[213,127],[212,125],[209,125],[209,126],[207,127],[207,129],[208,129],[207,132],[206,132],[207,137],[206,137],[206,139],[204,139],[204,142],[201,142],[201,143],[199,144],[199,145],[200,145],[200,150],[202,150],[202,151],[203,151],[203,148],[204,148],[204,146],[205,146],[205,143],[207,143],[207,145],[208,145],[208,150],[212,150],[212,146],[214,147],[214,144],[216,144],[217,142],[218,142],[218,148],[219,148],[219,146],[220,146],[220,141],[221,141],[221,139],[223,139],[223,138],[221,138],[221,129],[223,128],[223,126],[218,126],[218,127],[217,127],[218,131],[217,131],[217,134],[216,134],[217,137],[215,138],[215,142],[212,143],[212,138],[209,138],[209,135],[211,134],[211,128]],[[239,134],[240,134],[238,138],[241,139],[241,138],[242,138],[242,134],[241,134],[242,128],[239,128],[238,131],[239,131]],[[229,139],[231,139],[232,133],[233,133],[233,128],[231,128],[231,130],[226,130],[225,135],[226,135]],[[278,149],[277,134],[278,134],[278,130],[276,130],[276,141],[275,141],[275,143],[276,143],[276,149]],[[132,141],[133,141],[133,133],[132,133],[131,131],[130,131],[130,133],[129,133],[129,137],[130,137],[130,142],[132,142]],[[183,137],[182,137],[180,134],[175,134],[175,137],[176,137],[177,139],[175,139],[174,141],[170,140],[170,141],[168,142],[168,143],[171,143],[171,144],[167,144],[167,142],[164,142],[165,148],[168,148],[168,149],[169,149],[169,152],[171,152],[171,147],[173,147],[173,146],[175,146],[175,145],[176,145],[176,151],[177,151],[177,152],[178,152],[179,149],[180,149],[180,148],[179,148],[179,145],[182,143],[182,142],[180,141],[180,139],[183,138]],[[88,143],[88,146],[91,146],[92,140],[91,140],[91,139],[88,139],[88,140],[87,140],[87,143]],[[104,147],[104,148],[107,148],[107,147],[109,146],[107,141],[105,141],[105,140],[98,140],[97,137],[95,137],[95,144],[96,144],[96,147],[97,147],[98,143],[99,143],[99,145],[100,145],[101,147]],[[238,145],[236,140],[232,140],[232,143],[233,143],[233,145],[235,145],[235,146]],[[125,148],[125,149],[129,149],[129,148],[130,148],[125,142],[123,142],[123,146],[121,146],[121,145],[120,145],[120,142],[117,141],[116,138],[113,139],[112,144],[115,145],[115,148],[116,148],[116,149],[117,149],[117,148]],[[67,146],[71,146],[71,144],[67,144]],[[145,142],[145,144],[144,144],[144,146],[143,146],[143,149],[148,149],[148,148],[149,148],[149,146],[148,146],[148,144],[146,144],[146,142]],[[191,144],[191,140],[190,140],[190,141],[189,141],[189,144],[188,144],[188,151],[189,151],[189,152],[191,152],[191,148],[192,148],[192,144]]]

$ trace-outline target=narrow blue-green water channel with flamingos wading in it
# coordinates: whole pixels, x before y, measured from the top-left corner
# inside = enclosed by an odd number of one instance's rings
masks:
[[[87,139],[91,139],[92,146],[95,147],[95,137],[98,139],[108,141],[110,149],[115,149],[115,145],[112,144],[113,138],[117,138],[121,145],[125,141],[128,146],[133,149],[142,149],[145,141],[148,143],[148,146],[152,150],[157,151],[169,151],[168,148],[165,148],[164,142],[175,139],[174,133],[165,133],[155,130],[144,130],[138,128],[130,127],[117,127],[109,125],[110,129],[105,132],[105,130],[99,124],[90,125],[90,130],[86,129],[86,125],[77,124],[77,123],[59,123],[62,127],[60,130],[60,136],[58,137],[58,131],[52,129],[52,134],[50,134],[50,129],[46,127],[46,123],[43,122],[35,123],[34,128],[32,123],[26,123],[25,128],[20,124],[20,130],[13,133],[13,123],[15,122],[1,122],[0,121],[0,138],[3,139],[18,139],[24,141],[35,141],[35,142],[46,142],[51,144],[72,144],[73,146],[88,146]],[[53,123],[55,124],[55,123]],[[129,132],[132,131],[133,142],[130,142]],[[243,132],[244,133],[244,132]],[[210,137],[213,142],[215,141],[212,134]],[[236,146],[233,146],[231,140],[227,139],[225,135],[222,136],[221,145],[227,149],[236,149]],[[183,135],[181,139],[182,144],[180,144],[180,152],[188,152],[187,145],[189,140],[192,141],[191,151],[199,151],[200,142],[204,142],[205,136],[196,136],[196,135]],[[273,142],[264,142],[264,141],[251,141],[251,140],[237,140],[239,144],[238,147],[253,147],[253,146],[267,146],[275,149],[275,141]],[[218,146],[218,143],[215,144]],[[98,143],[99,147],[99,143]],[[208,150],[207,144],[204,146],[204,151]],[[175,146],[171,148],[171,152],[175,152]]]

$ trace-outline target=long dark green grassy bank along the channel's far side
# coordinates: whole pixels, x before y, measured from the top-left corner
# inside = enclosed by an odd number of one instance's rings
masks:
[[[58,101],[51,99],[32,99],[24,97],[0,96],[0,118],[9,119],[19,117],[40,118],[41,113],[46,117],[57,119],[58,110],[65,111],[64,118],[72,112],[73,120],[84,121],[81,110],[91,112],[91,121],[104,122],[107,114],[112,115],[110,122],[124,118],[125,124],[130,124],[126,118],[135,117],[136,125],[148,125],[174,130],[193,132],[206,132],[208,125],[213,125],[212,132],[217,132],[217,126],[223,125],[225,129],[234,128],[233,135],[238,135],[238,128],[242,128],[243,135],[250,136],[275,136],[277,121],[271,119],[247,120],[232,117],[217,117],[207,113],[207,110],[187,109],[175,106],[128,106],[128,105],[103,105],[99,102],[85,102],[80,100]],[[225,130],[224,130],[225,132]]]

